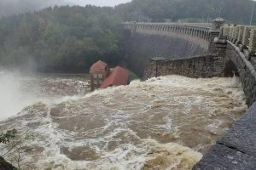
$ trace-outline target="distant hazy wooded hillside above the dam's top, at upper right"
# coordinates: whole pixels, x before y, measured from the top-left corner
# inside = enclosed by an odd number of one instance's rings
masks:
[[[247,24],[252,7],[252,0],[133,0],[117,6],[116,11],[124,20],[207,22],[220,14]]]

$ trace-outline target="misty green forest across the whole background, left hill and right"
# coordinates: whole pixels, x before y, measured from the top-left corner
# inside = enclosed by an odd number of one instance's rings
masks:
[[[252,6],[251,0],[133,0],[115,8],[55,6],[10,15],[0,19],[0,65],[38,71],[81,71],[97,59],[116,65],[124,56],[122,21],[207,22],[220,15],[247,24]]]

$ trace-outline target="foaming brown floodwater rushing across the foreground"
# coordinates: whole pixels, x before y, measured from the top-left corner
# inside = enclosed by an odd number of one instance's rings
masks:
[[[5,158],[25,170],[191,169],[247,110],[236,77],[158,77],[93,93],[85,75],[0,79],[0,130],[16,128],[21,145]]]

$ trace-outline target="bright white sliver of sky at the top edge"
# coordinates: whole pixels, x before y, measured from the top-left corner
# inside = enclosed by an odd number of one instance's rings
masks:
[[[120,3],[128,3],[131,0],[64,0],[69,4],[79,4],[79,5],[86,5],[86,4],[93,4],[96,6],[115,6]]]

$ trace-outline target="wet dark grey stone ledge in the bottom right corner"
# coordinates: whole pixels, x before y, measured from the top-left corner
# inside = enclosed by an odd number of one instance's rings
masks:
[[[193,170],[256,169],[256,102]]]

